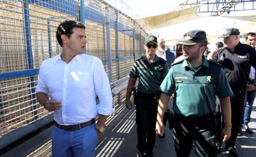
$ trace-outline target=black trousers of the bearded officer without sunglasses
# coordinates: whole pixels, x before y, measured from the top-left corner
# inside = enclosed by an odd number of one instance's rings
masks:
[[[192,142],[196,157],[217,157],[216,121],[190,122],[174,115],[173,140],[177,157],[189,157]]]

